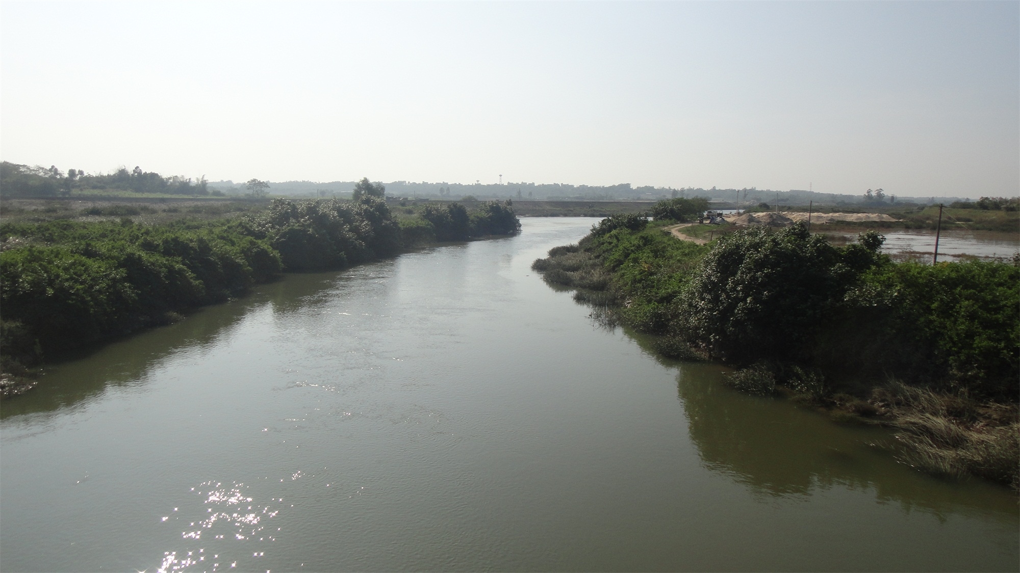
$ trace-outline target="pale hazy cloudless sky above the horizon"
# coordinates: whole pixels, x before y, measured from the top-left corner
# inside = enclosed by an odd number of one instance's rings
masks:
[[[0,158],[1017,195],[1020,3],[3,2]]]

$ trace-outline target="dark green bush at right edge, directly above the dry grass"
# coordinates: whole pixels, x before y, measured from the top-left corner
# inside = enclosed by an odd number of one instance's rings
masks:
[[[1020,394],[1020,267],[885,262],[846,304],[847,323],[869,341],[859,358],[873,370],[982,398]]]

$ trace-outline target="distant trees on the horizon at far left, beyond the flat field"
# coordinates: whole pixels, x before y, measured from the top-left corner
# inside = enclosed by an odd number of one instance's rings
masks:
[[[205,176],[164,177],[152,171],[135,167],[131,171],[121,167],[108,174],[89,174],[82,169],[62,171],[56,166],[42,167],[0,162],[0,187],[4,195],[21,197],[57,197],[69,195],[72,190],[119,190],[135,193],[166,193],[171,195],[222,195],[209,190]]]

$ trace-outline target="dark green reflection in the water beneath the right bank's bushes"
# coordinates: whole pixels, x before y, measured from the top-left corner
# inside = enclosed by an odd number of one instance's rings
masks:
[[[761,496],[806,498],[838,485],[939,519],[961,508],[1020,514],[1016,503],[1003,503],[1015,502],[1004,487],[941,480],[897,463],[887,429],[839,425],[782,400],[742,395],[722,384],[725,367],[662,358],[652,350],[651,336],[625,332],[649,356],[677,368],[677,398],[704,466]]]

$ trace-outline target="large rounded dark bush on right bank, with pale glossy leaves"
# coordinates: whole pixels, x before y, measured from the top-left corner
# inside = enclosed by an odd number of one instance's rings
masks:
[[[803,225],[719,240],[681,298],[683,328],[735,364],[807,360],[811,341],[864,270],[875,233],[836,249]]]

